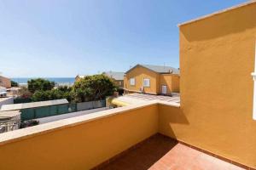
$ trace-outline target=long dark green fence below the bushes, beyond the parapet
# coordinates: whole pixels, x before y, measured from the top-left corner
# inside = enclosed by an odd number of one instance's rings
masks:
[[[96,101],[93,101],[96,102]],[[63,104],[63,105],[50,105],[50,106],[44,106],[44,107],[38,107],[38,108],[32,108],[32,109],[22,109],[21,110],[21,121],[27,121],[31,119],[38,119],[42,117],[47,116],[57,116],[61,114],[67,114],[74,111],[85,111],[89,109],[99,108],[99,107],[105,107],[105,100],[100,100],[99,103],[101,104],[96,105],[94,107],[90,108],[84,108],[84,110],[79,109],[78,105],[80,107],[81,103],[70,103],[70,104]],[[85,103],[82,103],[82,105],[88,105]]]

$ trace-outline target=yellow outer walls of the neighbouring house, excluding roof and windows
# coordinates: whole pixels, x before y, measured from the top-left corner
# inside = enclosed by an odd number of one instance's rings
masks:
[[[135,78],[135,86],[130,85],[130,78]],[[130,91],[139,92],[143,87],[143,78],[150,79],[150,87],[144,88],[146,94],[161,94],[161,86],[167,86],[167,94],[179,92],[179,76],[172,74],[159,74],[150,71],[142,66],[137,66],[129,71],[124,77],[124,88]]]

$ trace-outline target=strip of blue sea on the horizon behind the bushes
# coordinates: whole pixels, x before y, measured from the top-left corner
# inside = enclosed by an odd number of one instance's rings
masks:
[[[11,78],[12,81],[18,82],[20,86],[26,86],[27,81],[37,77],[19,77]],[[56,86],[72,86],[75,82],[74,77],[42,77],[50,82],[55,82]]]

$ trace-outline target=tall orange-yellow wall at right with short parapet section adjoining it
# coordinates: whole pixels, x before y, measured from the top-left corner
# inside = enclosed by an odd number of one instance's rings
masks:
[[[181,26],[181,110],[160,106],[161,133],[250,167],[255,16],[253,3]]]

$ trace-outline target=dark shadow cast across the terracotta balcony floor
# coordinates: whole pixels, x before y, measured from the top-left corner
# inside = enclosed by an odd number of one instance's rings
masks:
[[[161,134],[156,134],[134,150],[129,150],[123,156],[110,162],[103,170],[145,170],[177,144],[177,141]]]

